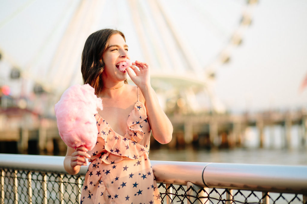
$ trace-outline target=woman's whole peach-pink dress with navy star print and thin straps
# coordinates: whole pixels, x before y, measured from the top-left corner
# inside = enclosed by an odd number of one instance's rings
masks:
[[[139,91],[139,89],[138,89]],[[145,105],[135,103],[124,136],[99,114],[98,138],[85,175],[80,203],[161,203],[148,158],[150,125]]]

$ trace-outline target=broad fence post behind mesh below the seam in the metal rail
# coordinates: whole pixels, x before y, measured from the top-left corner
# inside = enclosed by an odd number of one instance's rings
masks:
[[[208,191],[208,188],[204,188],[204,191],[201,191],[203,189],[202,187],[196,186],[192,182],[187,182],[187,197],[188,197],[188,203],[193,204],[202,204],[207,202],[208,200],[208,194],[206,195],[206,192]]]

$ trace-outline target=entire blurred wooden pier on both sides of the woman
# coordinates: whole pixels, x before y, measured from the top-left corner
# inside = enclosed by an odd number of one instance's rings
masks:
[[[198,114],[169,116],[174,132],[169,148],[194,144],[200,148],[242,147],[248,127],[258,129],[259,147],[264,147],[266,127],[280,125],[285,148],[290,147],[291,128],[300,127],[301,146],[306,146],[307,111],[269,111],[255,114]],[[216,142],[218,141],[218,142]],[[7,144],[15,143],[16,148]],[[158,145],[151,141],[154,147]],[[5,152],[4,152],[5,151]],[[0,152],[21,154],[58,154],[66,145],[60,139],[55,118],[45,118],[26,109],[0,109]]]

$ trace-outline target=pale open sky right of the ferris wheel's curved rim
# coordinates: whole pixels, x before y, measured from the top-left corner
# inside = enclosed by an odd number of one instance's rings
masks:
[[[243,44],[217,71],[217,95],[233,109],[307,105],[307,2],[260,1]]]

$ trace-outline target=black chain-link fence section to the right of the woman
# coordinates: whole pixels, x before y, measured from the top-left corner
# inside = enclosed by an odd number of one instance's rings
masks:
[[[163,203],[307,203],[303,201],[303,195],[297,194],[201,188],[193,185],[163,183],[160,183],[158,187]]]

